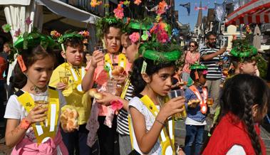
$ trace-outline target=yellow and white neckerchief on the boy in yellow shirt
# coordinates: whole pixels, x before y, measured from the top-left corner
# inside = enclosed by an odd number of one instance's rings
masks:
[[[82,65],[78,67],[79,74],[76,72],[76,70],[68,63],[63,63],[62,67],[68,70],[68,77],[72,77],[73,79],[73,89],[78,90],[78,92],[83,93],[83,89],[81,87],[81,82],[83,80],[83,77],[85,75],[85,67]]]

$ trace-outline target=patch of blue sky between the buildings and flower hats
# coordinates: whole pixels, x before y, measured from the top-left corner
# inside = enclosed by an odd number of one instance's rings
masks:
[[[207,6],[214,8],[214,3],[221,4],[224,0],[202,0],[202,7]],[[187,9],[180,4],[187,4],[190,2],[190,15],[187,16]],[[194,31],[194,25],[197,23],[198,12],[195,11],[194,7],[199,7],[199,0],[175,0],[175,10],[178,10],[178,18],[180,23],[189,23],[191,31]],[[207,10],[202,11],[202,16],[207,16]]]

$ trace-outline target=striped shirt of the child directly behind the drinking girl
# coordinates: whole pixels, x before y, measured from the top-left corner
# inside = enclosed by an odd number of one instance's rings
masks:
[[[128,91],[125,94],[125,100],[131,100],[133,96],[133,85],[128,86]],[[120,109],[117,117],[117,132],[119,134],[127,134],[130,135],[130,130],[128,128],[128,112],[125,109]]]

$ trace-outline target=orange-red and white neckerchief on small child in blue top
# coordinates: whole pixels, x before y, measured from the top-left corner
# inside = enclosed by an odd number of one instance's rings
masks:
[[[202,88],[203,98],[202,98],[202,95],[199,93],[199,90],[197,90],[197,88],[194,85],[191,85],[189,89],[192,90],[192,92],[194,92],[196,97],[199,99],[199,106],[201,107],[202,114],[206,114],[207,113],[207,98],[208,98],[207,89],[204,87]]]

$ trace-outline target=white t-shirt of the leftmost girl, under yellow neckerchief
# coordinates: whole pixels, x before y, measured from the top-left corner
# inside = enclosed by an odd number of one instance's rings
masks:
[[[48,94],[48,90],[46,90],[46,92],[43,92],[43,93]],[[31,95],[31,97],[34,96],[31,93],[29,93],[29,94]],[[59,96],[60,106],[63,107],[64,105],[66,105],[66,100],[65,100],[65,97],[63,97],[62,92],[59,90],[58,90],[58,96]],[[59,109],[61,109],[61,107],[59,107]],[[6,118],[6,119],[19,119],[21,121],[21,119],[26,117],[27,114],[28,113],[26,112],[26,109],[24,109],[24,107],[21,105],[21,103],[17,100],[17,96],[11,95],[11,97],[9,98],[9,101],[7,102],[7,105],[6,105],[6,112],[5,112],[4,118]],[[61,111],[59,112],[58,118],[60,118],[60,115],[61,115]],[[58,123],[57,123],[57,127],[56,127],[57,130],[59,128],[59,123],[60,123],[60,121],[58,121]],[[33,132],[33,127],[29,127],[27,129],[25,138],[28,138],[31,141],[36,142],[36,137],[35,137],[35,134]]]

